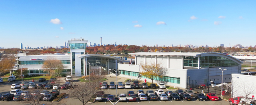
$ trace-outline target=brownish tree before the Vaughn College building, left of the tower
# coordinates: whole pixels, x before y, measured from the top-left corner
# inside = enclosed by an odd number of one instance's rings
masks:
[[[44,65],[42,66],[44,68],[44,72],[50,72],[51,76],[53,76],[55,73],[60,74],[64,70],[64,66],[60,60],[57,60],[56,58],[52,58],[48,56],[46,60],[44,61]]]

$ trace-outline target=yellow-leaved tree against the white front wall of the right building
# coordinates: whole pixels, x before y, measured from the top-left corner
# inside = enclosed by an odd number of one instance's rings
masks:
[[[152,83],[155,78],[162,78],[167,74],[167,69],[161,64],[142,64],[141,68],[143,71],[140,74],[152,80]]]

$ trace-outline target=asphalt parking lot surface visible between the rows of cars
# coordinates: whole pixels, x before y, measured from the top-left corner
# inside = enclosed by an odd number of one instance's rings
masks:
[[[106,82],[108,82],[108,85],[110,82],[115,82],[116,78],[111,78],[111,77],[107,77],[108,80],[106,80]],[[123,82],[124,80],[126,80],[127,78],[117,78],[117,82]],[[10,86],[14,83],[20,84],[21,81],[16,81],[16,82],[4,82],[4,83],[0,83],[0,93],[4,94],[4,93],[8,93],[10,92],[12,89],[10,89]],[[42,82],[35,82],[36,84],[42,83]],[[77,84],[78,82],[73,82],[73,84]],[[64,80],[61,80],[60,84],[64,84]],[[141,83],[140,83],[141,84]],[[141,89],[141,88],[139,88]],[[125,93],[127,94],[127,91],[134,91],[134,93],[136,94],[136,91],[139,89],[117,89],[117,94],[119,95],[120,93]],[[157,89],[157,88],[156,88]],[[156,89],[142,89],[144,90],[144,92],[146,92],[147,90],[153,90],[155,91]],[[167,89],[163,89],[164,91],[167,91]],[[24,91],[24,90],[23,90]],[[52,91],[51,89],[48,89],[48,91]],[[103,89],[103,91],[105,91],[106,94],[111,94],[111,95],[115,95],[116,94],[116,89]],[[171,91],[175,91],[175,90],[171,90]],[[66,92],[68,94],[68,90],[60,90],[60,93]],[[45,105],[81,105],[82,103],[78,100],[78,99],[73,99],[73,98],[66,98],[66,99],[62,99],[62,102],[57,102],[57,103],[52,103],[51,101],[43,101],[42,102]],[[27,105],[28,103],[25,103],[24,101],[0,101],[0,105]],[[87,103],[87,105],[112,105],[112,103],[110,103],[109,101],[107,101],[106,99],[104,99],[102,102],[95,102],[95,103]],[[198,101],[196,100],[196,98],[192,98],[191,101],[184,101],[183,99],[181,101],[173,101],[172,99],[168,98],[168,101],[140,101],[137,97],[137,101],[120,101],[117,103],[117,105],[229,105],[228,101],[225,100],[220,100],[220,101]]]

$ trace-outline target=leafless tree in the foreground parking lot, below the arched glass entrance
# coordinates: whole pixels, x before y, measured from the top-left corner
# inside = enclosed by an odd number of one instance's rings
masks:
[[[103,75],[92,75],[90,82],[80,82],[74,89],[70,89],[70,97],[79,99],[85,105],[91,99],[96,98],[98,91],[100,91],[100,82],[103,78]]]

